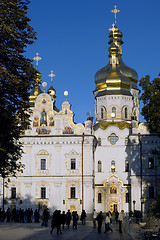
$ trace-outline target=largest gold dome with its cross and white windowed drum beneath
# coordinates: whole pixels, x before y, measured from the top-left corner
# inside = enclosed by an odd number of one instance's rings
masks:
[[[122,60],[123,34],[117,27],[116,5],[112,12],[115,22],[109,29],[109,63],[95,74],[95,117],[101,125],[113,121],[125,125],[139,120],[138,75]]]

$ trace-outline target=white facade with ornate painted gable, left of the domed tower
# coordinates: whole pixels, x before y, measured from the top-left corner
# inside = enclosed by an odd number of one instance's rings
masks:
[[[21,163],[25,168],[16,179],[11,178],[5,189],[6,207],[16,205],[35,209],[47,206],[80,213],[83,204],[83,208],[91,212],[94,136],[91,128],[87,127],[90,121],[86,126],[74,124],[68,101],[64,101],[62,110],[56,112],[47,93],[38,95],[31,120],[31,129],[21,137],[24,146]],[[83,143],[82,133],[85,134]],[[16,197],[12,196],[13,188],[16,188]]]

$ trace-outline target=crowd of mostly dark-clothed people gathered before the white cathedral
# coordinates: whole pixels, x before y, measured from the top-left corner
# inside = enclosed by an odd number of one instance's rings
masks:
[[[102,231],[102,223],[104,223],[104,232],[111,231],[112,223],[119,223],[119,232],[122,232],[122,224],[124,221],[124,211],[122,210],[120,213],[118,211],[113,211],[112,213],[109,211],[105,215],[100,211],[99,213],[96,212],[94,209],[93,211],[93,227],[98,227],[98,232]],[[11,210],[10,208],[7,209],[5,212],[0,208],[0,222],[20,222],[20,223],[31,223],[41,221],[41,226],[48,227],[48,220],[50,218],[49,210],[46,208],[43,210],[40,216],[40,212],[38,209],[35,209],[33,212],[32,208],[24,209],[16,209],[14,208]],[[51,234],[54,229],[56,229],[57,234],[62,234],[62,228],[66,225],[70,228],[71,220],[72,220],[72,227],[73,229],[77,229],[78,220],[82,222],[82,225],[86,224],[87,214],[85,210],[82,210],[80,217],[78,216],[77,211],[73,211],[72,213],[68,210],[66,213],[65,211],[61,212],[61,210],[55,210],[53,215],[51,216]]]

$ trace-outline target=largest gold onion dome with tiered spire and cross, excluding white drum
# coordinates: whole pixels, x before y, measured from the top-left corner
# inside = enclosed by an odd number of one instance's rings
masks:
[[[138,89],[138,75],[137,72],[128,67],[122,61],[122,32],[116,25],[116,13],[118,10],[115,8],[115,23],[109,29],[109,63],[96,72],[95,83],[96,96],[124,94],[131,95],[131,88]],[[97,95],[98,94],[98,95]]]

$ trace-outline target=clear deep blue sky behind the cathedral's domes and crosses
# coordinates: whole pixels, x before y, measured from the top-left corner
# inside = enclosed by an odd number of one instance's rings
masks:
[[[137,71],[139,79],[147,74],[157,77],[159,0],[31,0],[29,4],[30,25],[38,40],[28,47],[26,55],[33,59],[39,53],[42,60],[38,69],[47,88],[53,70],[56,106],[61,109],[67,90],[76,123],[84,122],[87,112],[94,116],[94,75],[109,61],[108,29],[114,23],[111,10],[115,4],[120,9],[117,27],[123,33],[123,61]]]

